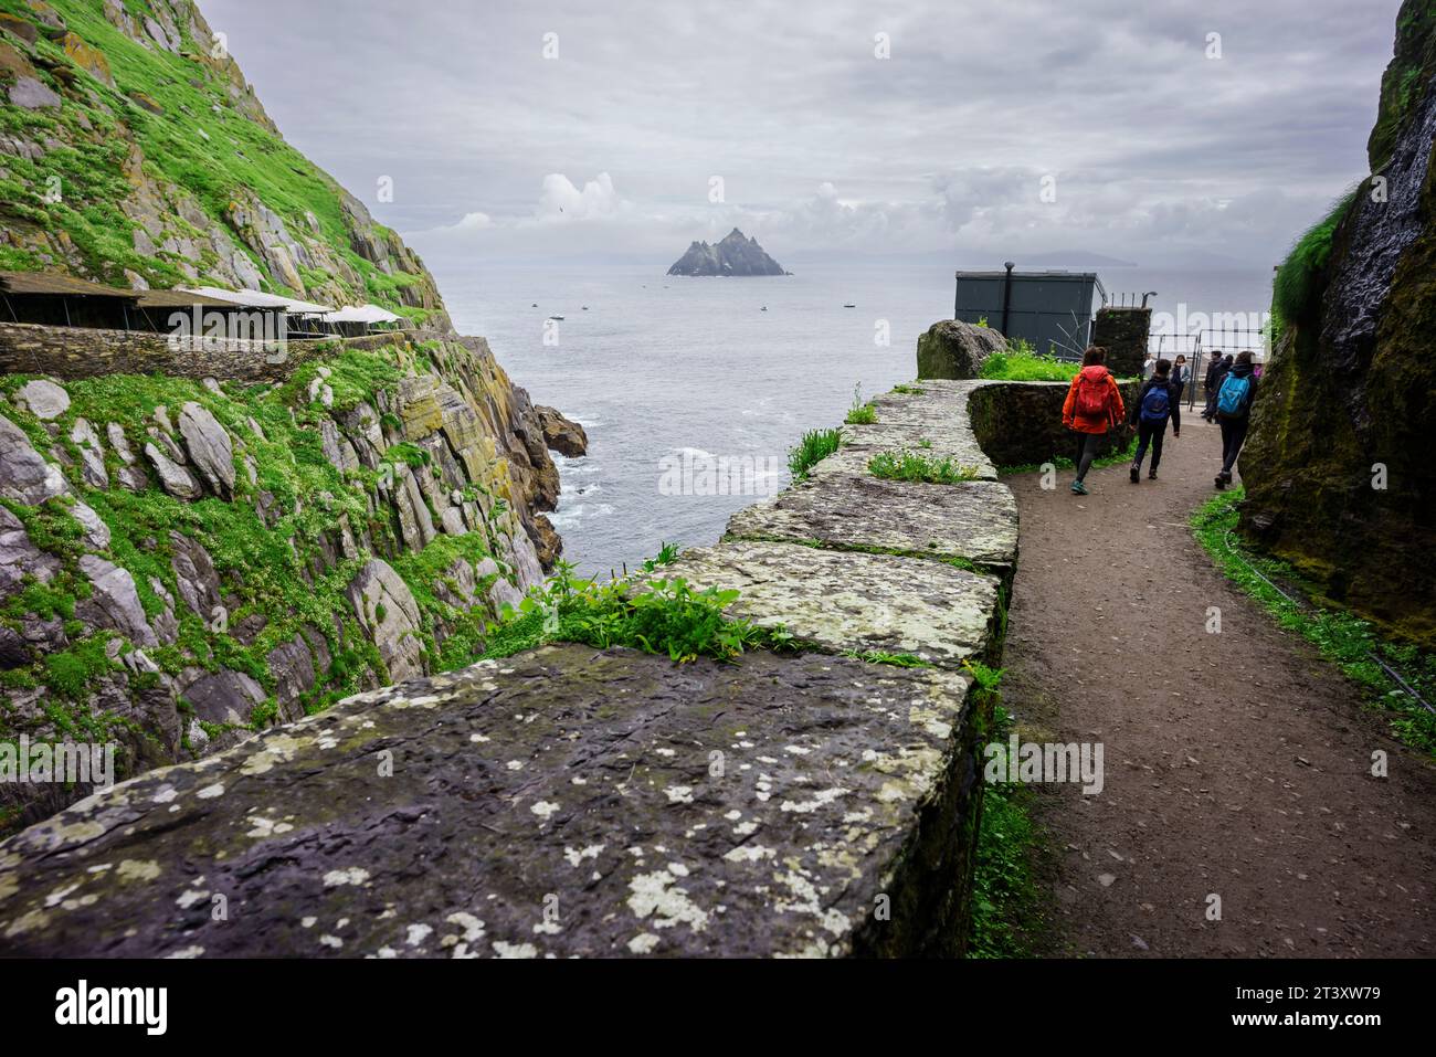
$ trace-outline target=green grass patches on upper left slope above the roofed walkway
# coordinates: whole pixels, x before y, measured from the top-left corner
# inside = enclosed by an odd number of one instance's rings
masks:
[[[0,132],[30,142],[53,136],[62,144],[37,161],[6,157],[6,175],[0,177],[0,220],[22,230],[29,225],[63,231],[88,273],[105,281],[129,286],[126,270],[154,287],[192,281],[180,267],[182,257],[162,248],[152,256],[139,253],[132,237],[136,225],[118,208],[118,202],[134,191],[126,177],[132,136],[144,154],[145,174],[194,195],[200,210],[225,227],[240,251],[269,276],[271,289],[284,287],[236,230],[236,210],[247,192],[281,217],[290,234],[303,233],[326,244],[358,276],[359,286],[329,273],[302,274],[306,281],[332,281],[346,287],[352,300],[373,300],[419,320],[428,315],[398,299],[399,289],[419,281],[418,276],[385,274],[353,250],[339,184],[280,135],[234,106],[231,82],[198,57],[213,49],[213,42],[190,39],[188,26],[182,24],[182,53],[174,55],[161,47],[144,47],[111,26],[98,0],[53,0],[53,7],[75,34],[105,56],[115,88],[72,66],[83,90],[65,92],[40,69],[42,80],[65,96],[59,111],[0,106]],[[145,0],[126,0],[126,7],[141,19],[149,11]],[[24,0],[0,0],[0,11],[34,20]],[[43,34],[32,47],[40,59],[69,65],[65,50]],[[164,113],[139,106],[136,96],[157,102]],[[60,181],[59,201],[46,198],[52,178]],[[187,227],[178,218],[171,223],[181,230]],[[388,236],[381,225],[373,230],[379,237]],[[214,257],[207,241],[200,246],[202,259],[190,263],[204,276]],[[0,269],[45,267],[46,261],[34,250],[0,247]]]

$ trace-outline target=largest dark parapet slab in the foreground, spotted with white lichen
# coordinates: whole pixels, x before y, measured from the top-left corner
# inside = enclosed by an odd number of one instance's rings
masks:
[[[350,698],[0,844],[0,954],[952,954],[969,688],[561,646]]]

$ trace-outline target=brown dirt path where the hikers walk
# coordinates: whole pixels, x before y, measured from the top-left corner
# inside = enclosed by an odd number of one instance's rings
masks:
[[[1167,437],[1073,495],[1011,478],[1021,559],[1004,699],[1024,740],[1103,742],[1106,787],[1045,786],[1061,954],[1436,955],[1436,768],[1188,528],[1221,441]],[[1222,630],[1205,630],[1219,606]],[[1384,750],[1390,777],[1370,774]],[[1221,896],[1221,921],[1208,898]]]

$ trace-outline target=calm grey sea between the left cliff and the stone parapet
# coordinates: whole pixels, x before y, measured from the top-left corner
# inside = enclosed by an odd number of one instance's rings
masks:
[[[632,567],[663,543],[714,543],[755,497],[692,494],[705,491],[699,477],[685,494],[673,475],[685,455],[698,468],[727,458],[752,490],[775,491],[800,434],[840,424],[854,388],[872,396],[910,381],[918,335],[952,316],[949,267],[790,267],[765,279],[669,279],[665,264],[437,269],[455,326],[485,336],[536,404],[589,432],[587,458],[557,460],[551,516],[580,572]],[[1109,292],[1156,290],[1152,304],[1173,316],[1269,302],[1262,271],[1101,279]]]

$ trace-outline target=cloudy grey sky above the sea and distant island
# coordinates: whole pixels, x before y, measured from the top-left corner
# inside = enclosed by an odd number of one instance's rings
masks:
[[[738,225],[780,260],[1265,266],[1364,174],[1399,0],[201,7],[431,264],[666,261]]]

